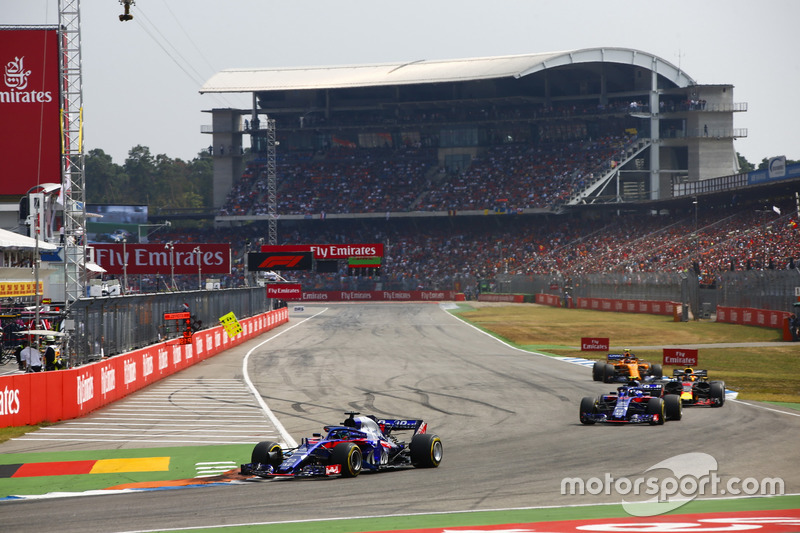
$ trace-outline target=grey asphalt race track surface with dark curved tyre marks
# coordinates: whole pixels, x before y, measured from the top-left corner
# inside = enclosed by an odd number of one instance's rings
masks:
[[[729,401],[720,409],[685,409],[681,421],[663,426],[583,426],[578,422],[581,397],[607,392],[612,385],[593,382],[590,369],[506,346],[437,304],[308,305],[302,312],[291,312],[289,324],[168,378],[159,387],[178,394],[187,382],[229,379],[233,381],[225,389],[240,391],[248,352],[253,386],[278,421],[271,425],[269,416],[260,415],[264,435],[279,432],[282,425],[290,438],[300,440],[325,424],[341,422],[349,410],[419,417],[444,443],[441,466],[355,479],[262,480],[3,502],[3,529],[48,531],[57,523],[64,533],[147,531],[620,503],[613,491],[562,494],[561,482],[565,477],[668,477],[672,472],[664,469],[646,471],[660,461],[697,452],[712,456],[717,473],[726,480],[777,477],[785,493],[800,491],[797,412]],[[222,389],[206,391],[203,400],[239,407],[240,412],[225,411],[230,417],[253,414],[258,402],[231,400],[225,394]],[[109,409],[83,421],[107,416]],[[0,446],[0,452],[150,445],[173,444],[137,444],[135,438],[19,439]]]

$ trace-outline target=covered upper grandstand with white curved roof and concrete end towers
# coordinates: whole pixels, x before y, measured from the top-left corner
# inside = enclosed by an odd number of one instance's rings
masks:
[[[267,117],[282,218],[663,200],[676,184],[737,173],[733,141],[747,135],[733,127],[747,106],[732,86],[620,48],[224,70],[201,92],[254,103],[211,110],[204,129],[218,221],[266,216]]]

